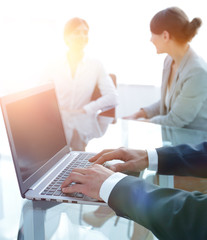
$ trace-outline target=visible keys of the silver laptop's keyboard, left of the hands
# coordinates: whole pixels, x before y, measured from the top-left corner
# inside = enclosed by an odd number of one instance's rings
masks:
[[[91,165],[88,162],[88,159],[93,157],[93,153],[79,153],[72,162],[70,162],[65,169],[55,178],[53,181],[41,192],[41,195],[49,195],[49,196],[70,196],[70,197],[77,197],[83,198],[84,194],[82,193],[70,193],[64,194],[61,191],[61,184],[65,181],[65,179],[69,176],[71,171],[74,168],[86,168]]]

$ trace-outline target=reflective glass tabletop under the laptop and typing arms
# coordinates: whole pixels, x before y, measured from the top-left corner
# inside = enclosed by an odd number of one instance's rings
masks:
[[[204,140],[207,140],[207,133],[202,131],[118,119],[115,124],[109,124],[100,136],[90,137],[86,151],[99,152],[104,148],[121,146],[155,148],[181,143],[196,144]],[[56,205],[22,199],[5,131],[0,135],[0,156],[0,239],[17,239],[18,234],[18,239],[23,239],[24,235],[24,239],[30,240],[124,240],[132,236],[133,223],[124,218],[117,219],[115,215],[98,228],[87,224],[83,220],[84,214],[94,211],[97,206],[68,203]],[[150,174],[145,171],[144,177]],[[173,182],[169,179],[171,177],[166,176],[160,179],[160,185],[171,186]],[[41,234],[45,237],[41,237]]]

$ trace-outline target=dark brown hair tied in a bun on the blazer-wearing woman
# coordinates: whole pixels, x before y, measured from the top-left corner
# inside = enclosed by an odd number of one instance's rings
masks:
[[[190,22],[180,8],[171,7],[155,14],[150,22],[150,30],[154,34],[167,31],[177,42],[186,43],[196,35],[201,24],[200,18],[193,18]]]

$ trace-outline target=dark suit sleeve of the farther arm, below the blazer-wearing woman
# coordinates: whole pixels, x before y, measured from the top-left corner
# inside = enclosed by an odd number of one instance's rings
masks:
[[[158,174],[207,177],[207,142],[156,149]]]

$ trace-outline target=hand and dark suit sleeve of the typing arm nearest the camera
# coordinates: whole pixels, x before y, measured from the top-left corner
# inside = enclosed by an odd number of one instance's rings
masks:
[[[73,170],[62,184],[63,192],[82,192],[101,200],[100,188],[116,174],[97,164]],[[145,226],[160,240],[207,239],[206,194],[161,188],[125,176],[109,191],[107,201],[117,215]]]

